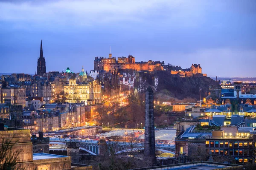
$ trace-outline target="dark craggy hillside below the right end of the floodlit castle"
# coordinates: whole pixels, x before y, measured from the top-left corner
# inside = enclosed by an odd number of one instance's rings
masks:
[[[201,87],[201,99],[209,93],[209,87],[219,87],[218,82],[201,75],[193,77],[179,77],[167,71],[140,74],[147,85],[154,85],[154,79],[158,78],[158,87],[155,98],[160,102],[195,102],[199,100],[199,87]]]

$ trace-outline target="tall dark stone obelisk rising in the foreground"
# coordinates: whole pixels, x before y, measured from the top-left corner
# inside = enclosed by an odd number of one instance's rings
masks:
[[[145,95],[145,142],[144,142],[145,159],[156,164],[156,148],[154,136],[154,92],[148,86]]]

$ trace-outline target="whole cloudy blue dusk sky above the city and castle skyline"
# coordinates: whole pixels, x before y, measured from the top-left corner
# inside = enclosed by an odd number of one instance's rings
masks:
[[[95,57],[160,60],[256,77],[256,0],[1,0],[0,72],[93,69]]]

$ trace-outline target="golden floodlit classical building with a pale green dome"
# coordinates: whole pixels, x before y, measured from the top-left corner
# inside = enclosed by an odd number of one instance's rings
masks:
[[[78,77],[71,77],[64,85],[64,92],[68,94],[67,102],[84,102],[94,105],[102,102],[101,85],[97,79],[87,77],[84,68]]]

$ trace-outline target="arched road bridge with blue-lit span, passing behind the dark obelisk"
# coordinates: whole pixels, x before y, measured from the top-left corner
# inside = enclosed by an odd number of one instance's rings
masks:
[[[84,150],[91,155],[99,154],[98,140],[89,140],[89,139],[72,139],[73,142],[80,143],[80,150]],[[66,150],[66,142],[70,142],[70,139],[63,138],[50,138],[50,147],[49,150]],[[107,141],[107,144],[111,144],[110,141]],[[135,150],[142,150],[144,143],[137,143]],[[116,154],[129,152],[131,151],[129,147],[129,142],[119,142],[116,147]],[[163,153],[172,153],[175,154],[175,144],[156,144],[156,149],[162,151]]]

